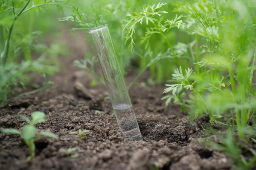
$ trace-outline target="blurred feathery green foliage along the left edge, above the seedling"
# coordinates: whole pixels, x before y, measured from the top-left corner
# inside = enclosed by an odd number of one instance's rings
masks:
[[[33,27],[40,25],[34,24],[38,13],[43,13],[47,6],[61,10],[66,1],[0,2],[0,105],[3,105],[18,86],[25,88],[30,72],[54,74],[58,71],[56,57],[61,54],[58,45],[49,48],[37,42],[42,32],[33,31]],[[40,57],[33,59],[32,53]]]

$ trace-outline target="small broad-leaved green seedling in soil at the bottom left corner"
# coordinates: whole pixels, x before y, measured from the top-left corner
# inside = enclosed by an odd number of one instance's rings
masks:
[[[54,138],[54,139],[58,139],[58,136],[56,136],[55,134],[53,134],[51,132],[40,132],[40,133],[36,134],[37,128],[35,127],[35,125],[38,123],[41,123],[41,122],[45,122],[45,119],[44,119],[45,114],[43,112],[37,111],[37,112],[32,113],[31,121],[26,116],[23,116],[23,115],[18,115],[18,116],[20,116],[22,119],[24,119],[29,124],[29,125],[25,125],[23,127],[23,130],[21,133],[17,129],[9,129],[9,128],[3,128],[3,129],[1,129],[1,132],[19,135],[24,140],[24,142],[26,143],[26,145],[29,148],[30,156],[26,160],[30,161],[31,159],[33,159],[35,157],[35,140],[39,136],[47,136],[47,137]]]

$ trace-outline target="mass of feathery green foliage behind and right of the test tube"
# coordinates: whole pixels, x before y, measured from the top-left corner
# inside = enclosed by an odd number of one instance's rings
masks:
[[[255,142],[255,6],[254,0],[96,1],[88,14],[73,7],[74,14],[60,20],[75,22],[72,30],[108,23],[123,72],[132,59],[139,63],[129,89],[147,68],[156,83],[169,79],[166,105],[174,102],[192,118],[209,114],[210,123],[226,126],[229,133],[215,148],[250,168],[256,152],[250,149],[254,157],[245,160],[234,134]],[[76,65],[91,71],[87,61]]]

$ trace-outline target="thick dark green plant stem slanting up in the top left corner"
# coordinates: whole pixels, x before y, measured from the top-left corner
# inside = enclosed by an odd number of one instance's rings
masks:
[[[22,12],[26,9],[26,7],[29,5],[30,0],[28,0],[26,2],[26,4],[23,6],[23,8],[19,11],[19,13],[17,15],[15,15],[15,17],[12,19],[12,23],[11,26],[9,28],[8,31],[8,35],[7,35],[7,39],[6,39],[6,43],[4,46],[4,51],[1,54],[1,63],[2,65],[6,64],[6,60],[8,58],[8,53],[9,53],[9,44],[10,44],[10,39],[11,39],[11,35],[12,35],[12,29],[14,27],[15,21],[17,20],[17,18],[22,14]]]

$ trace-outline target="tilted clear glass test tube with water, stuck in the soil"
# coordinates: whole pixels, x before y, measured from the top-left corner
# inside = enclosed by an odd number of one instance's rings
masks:
[[[121,73],[113,47],[108,25],[89,30],[94,49],[104,76],[112,107],[124,140],[143,140],[140,128],[131,104],[131,99]]]

